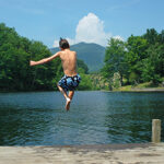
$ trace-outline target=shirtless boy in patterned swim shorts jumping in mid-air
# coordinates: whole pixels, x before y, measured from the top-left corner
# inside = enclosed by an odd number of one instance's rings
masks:
[[[61,59],[65,75],[58,82],[57,86],[66,98],[66,109],[69,110],[70,103],[74,95],[74,90],[79,85],[81,78],[77,72],[77,52],[70,50],[70,45],[67,39],[60,38],[59,47],[61,49],[60,51],[56,52],[49,58],[45,58],[39,61],[30,61],[30,66],[49,62],[57,57]],[[69,91],[68,94],[67,91]]]

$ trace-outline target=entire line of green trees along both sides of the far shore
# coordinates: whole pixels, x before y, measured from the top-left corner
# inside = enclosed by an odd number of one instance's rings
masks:
[[[22,37],[0,23],[0,91],[57,91],[63,75],[60,59],[30,67],[30,60],[49,56],[50,50],[42,42]],[[157,85],[164,78],[164,31],[147,30],[142,36],[131,35],[126,42],[110,38],[104,63],[101,73],[89,74],[87,66],[78,59],[82,77],[79,90],[108,90],[106,85],[112,90],[115,85],[150,81]]]

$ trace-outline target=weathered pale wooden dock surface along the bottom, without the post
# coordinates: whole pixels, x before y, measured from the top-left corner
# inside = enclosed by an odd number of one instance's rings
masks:
[[[164,143],[0,147],[0,164],[164,164]]]

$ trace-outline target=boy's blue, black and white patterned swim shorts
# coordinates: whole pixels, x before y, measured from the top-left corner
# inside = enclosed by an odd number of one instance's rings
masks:
[[[58,82],[58,85],[61,86],[65,91],[74,91],[81,81],[79,74],[73,77],[63,75]]]

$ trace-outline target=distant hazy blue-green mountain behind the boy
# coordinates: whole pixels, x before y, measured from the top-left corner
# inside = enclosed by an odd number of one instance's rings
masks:
[[[104,65],[105,47],[97,44],[79,43],[70,47],[71,50],[75,50],[78,59],[83,60],[90,72],[98,71]],[[57,52],[59,48],[51,48],[52,54]]]

